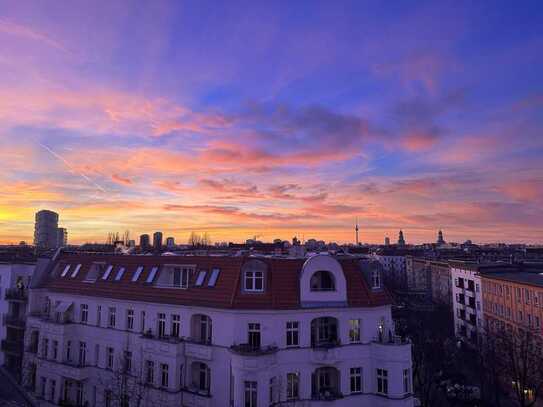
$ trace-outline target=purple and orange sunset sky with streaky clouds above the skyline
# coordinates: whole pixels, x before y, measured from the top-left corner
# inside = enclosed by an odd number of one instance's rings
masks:
[[[541,1],[0,0],[0,243],[543,242],[542,113]]]

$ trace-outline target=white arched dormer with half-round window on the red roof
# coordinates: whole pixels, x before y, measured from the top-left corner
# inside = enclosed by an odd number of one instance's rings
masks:
[[[333,256],[317,254],[306,260],[300,275],[300,302],[303,307],[347,305],[347,282]]]

